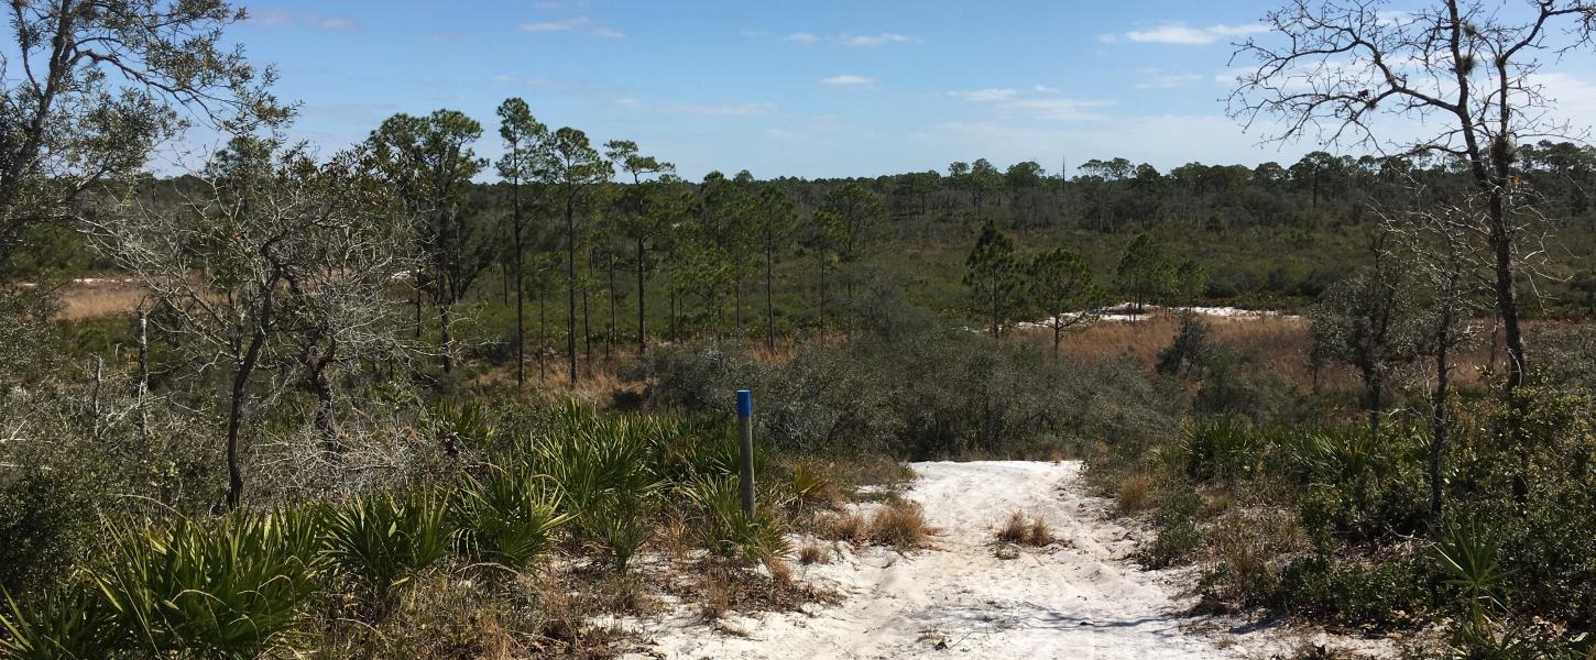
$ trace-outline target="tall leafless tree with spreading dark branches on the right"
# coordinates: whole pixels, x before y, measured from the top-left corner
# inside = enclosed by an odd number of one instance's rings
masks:
[[[1591,43],[1596,3],[1436,0],[1390,11],[1381,0],[1293,0],[1264,24],[1270,35],[1235,51],[1251,65],[1229,99],[1234,118],[1280,121],[1267,139],[1441,153],[1465,164],[1486,202],[1472,218],[1491,255],[1511,392],[1527,368],[1515,285],[1534,252],[1524,246],[1534,215],[1515,190],[1515,148],[1578,136],[1551,113],[1540,69],[1542,57]]]

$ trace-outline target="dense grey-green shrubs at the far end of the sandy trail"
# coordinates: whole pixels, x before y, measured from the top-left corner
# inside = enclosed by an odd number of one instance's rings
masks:
[[[862,300],[846,341],[760,363],[733,344],[650,352],[658,407],[726,410],[752,387],[761,442],[911,458],[1045,458],[1108,440],[1127,451],[1179,426],[1186,395],[1122,360],[1055,362],[1029,346],[950,328],[891,298]]]

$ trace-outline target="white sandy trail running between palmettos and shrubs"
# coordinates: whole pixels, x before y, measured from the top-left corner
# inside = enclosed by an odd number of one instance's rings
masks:
[[[795,571],[844,595],[806,612],[731,617],[712,631],[688,614],[643,623],[666,658],[1213,658],[1259,646],[1183,630],[1176,574],[1127,561],[1130,531],[1106,521],[1079,462],[922,462],[905,493],[942,529],[935,548],[844,552]],[[1061,544],[999,560],[993,534],[1025,510]],[[1262,639],[1258,639],[1262,642]],[[1234,646],[1232,646],[1234,644]],[[1221,649],[1224,646],[1224,649]],[[646,655],[643,655],[646,657]]]

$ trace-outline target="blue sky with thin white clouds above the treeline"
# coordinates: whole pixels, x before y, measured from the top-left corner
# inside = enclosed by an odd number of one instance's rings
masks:
[[[1057,172],[1061,158],[1168,169],[1317,148],[1258,145],[1224,116],[1231,41],[1275,5],[260,0],[231,33],[276,64],[279,94],[303,102],[295,136],[324,150],[447,107],[484,123],[479,153],[495,156],[493,108],[519,96],[546,124],[637,140],[693,179],[975,158]],[[1588,62],[1551,67],[1582,112]]]

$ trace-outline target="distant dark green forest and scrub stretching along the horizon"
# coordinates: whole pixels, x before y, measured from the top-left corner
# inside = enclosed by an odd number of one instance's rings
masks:
[[[1543,246],[1543,266],[1535,273],[1542,279],[1535,282],[1542,297],[1529,312],[1547,317],[1588,314],[1596,309],[1596,266],[1590,260],[1596,255],[1596,212],[1591,209],[1596,148],[1570,142],[1524,145],[1518,150],[1518,166],[1521,174],[1515,193],[1527,198],[1526,207],[1534,209],[1543,220],[1540,226],[1556,236]],[[635,282],[635,277],[629,281],[614,271],[637,269],[634,244],[638,228],[624,226],[622,220],[629,215],[627,204],[638,204],[626,190],[643,187],[653,188],[651,196],[670,198],[672,212],[709,220],[709,231],[717,234],[713,242],[728,260],[757,261],[752,252],[760,250],[753,246],[750,217],[758,214],[760,190],[779,188],[795,204],[795,226],[782,233],[772,257],[776,261],[793,261],[777,266],[777,279],[782,281],[777,287],[793,295],[806,292],[812,298],[819,293],[814,282],[817,266],[804,266],[801,260],[808,257],[809,261],[828,260],[820,268],[835,266],[836,282],[887,277],[903,284],[910,300],[934,309],[962,311],[966,303],[959,277],[966,252],[980,225],[993,222],[1017,236],[1021,253],[1055,247],[1080,252],[1104,284],[1132,238],[1148,233],[1173,257],[1207,268],[1207,281],[1199,289],[1202,300],[1294,308],[1312,301],[1328,284],[1371,258],[1381,214],[1414,207],[1427,198],[1462,194],[1468,185],[1460,164],[1448,158],[1353,158],[1325,151],[1312,151],[1291,164],[1262,163],[1256,167],[1187,163],[1160,172],[1146,163],[1112,158],[1088,159],[1073,169],[1073,175],[1060,179],[1034,161],[1002,169],[975,159],[951,163],[945,172],[875,179],[760,180],[742,171],[729,177],[710,172],[701,182],[666,175],[642,183],[626,180],[621,172],[603,183],[592,204],[579,210],[584,268],[595,287],[603,284],[598,281],[619,281],[618,287]],[[147,190],[163,198],[200,185],[195,177],[179,177],[152,182]],[[549,187],[528,182],[523,193],[528,199],[544,199],[528,202],[528,207],[536,206],[530,210],[538,217],[528,223],[528,247],[543,252],[555,252],[563,242],[562,226],[554,222],[557,209],[541,207],[547,206],[551,193],[541,188]],[[836,231],[817,222],[817,212],[839,190],[851,187],[871,193],[883,209],[875,215],[868,209],[860,210],[863,217],[851,220],[857,226],[844,228],[855,236],[846,236],[843,242],[847,246],[838,246],[838,252],[828,244],[833,242],[828,234],[835,238]],[[466,202],[460,209],[461,242],[469,246],[463,252],[469,258],[460,260],[460,279],[464,282],[509,273],[509,188],[506,182],[477,182],[464,194]],[[97,261],[69,228],[41,226],[34,231],[37,236],[29,247],[3,265],[0,279],[70,276],[110,268]],[[670,231],[650,233],[643,257],[650,273],[658,261],[653,253],[674,252],[672,242],[683,247],[688,238],[672,238]],[[739,260],[737,253],[747,253],[747,258]],[[731,266],[731,277],[737,282],[747,281],[752,287],[758,279],[758,273],[742,273],[752,268],[749,263]],[[689,282],[677,284],[678,289],[693,289]],[[741,289],[737,293],[742,293]]]

